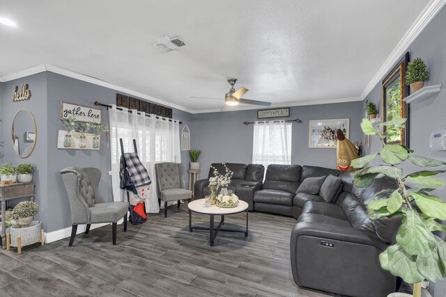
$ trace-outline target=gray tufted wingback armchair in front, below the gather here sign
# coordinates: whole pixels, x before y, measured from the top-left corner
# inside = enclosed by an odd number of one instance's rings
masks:
[[[71,207],[72,229],[70,243],[75,241],[77,225],[86,224],[85,234],[90,225],[112,223],[112,239],[116,245],[116,223],[124,218],[124,232],[127,231],[128,202],[105,202],[98,191],[101,172],[98,168],[68,167],[61,170],[63,184]]]

